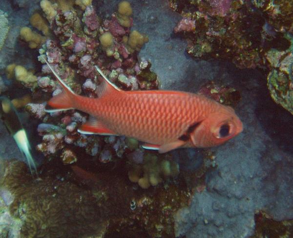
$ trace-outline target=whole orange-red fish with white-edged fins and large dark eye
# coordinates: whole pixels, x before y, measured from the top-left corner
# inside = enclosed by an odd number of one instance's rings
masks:
[[[123,91],[95,66],[103,82],[98,86],[99,98],[87,98],[75,94],[48,66],[63,92],[47,102],[46,111],[78,109],[88,113],[88,121],[78,130],[83,134],[124,135],[146,142],[146,149],[165,153],[179,147],[216,146],[243,129],[231,107],[202,95],[163,90]]]

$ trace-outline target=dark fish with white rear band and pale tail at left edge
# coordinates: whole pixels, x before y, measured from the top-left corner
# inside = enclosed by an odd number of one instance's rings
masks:
[[[37,172],[36,160],[32,155],[31,145],[21,124],[18,113],[10,99],[4,96],[0,97],[0,116],[9,134],[13,137],[25,156],[31,173],[33,169]]]

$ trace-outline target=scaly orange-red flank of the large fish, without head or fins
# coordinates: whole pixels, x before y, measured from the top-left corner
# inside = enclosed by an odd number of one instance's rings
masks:
[[[158,144],[178,139],[184,134],[189,124],[204,116],[204,113],[196,114],[194,113],[196,110],[190,110],[192,104],[198,104],[198,98],[203,98],[200,95],[190,95],[183,92],[168,95],[159,91],[157,94],[149,95],[147,93],[147,91],[128,94],[122,92],[118,93],[119,97],[109,95],[95,99],[95,101],[82,98],[83,102],[78,104],[86,105],[88,108],[84,106],[83,108],[76,107],[101,120],[111,131]],[[211,104],[214,103],[210,99],[204,99]],[[172,101],[172,103],[168,101]],[[93,110],[92,104],[97,105],[96,110]],[[140,107],[136,105],[140,105]],[[156,111],[154,108],[158,108],[158,110]],[[188,108],[190,109],[188,110]],[[212,109],[213,107],[209,108]],[[206,113],[210,112],[211,110],[206,111]],[[139,121],[141,121],[141,124]]]

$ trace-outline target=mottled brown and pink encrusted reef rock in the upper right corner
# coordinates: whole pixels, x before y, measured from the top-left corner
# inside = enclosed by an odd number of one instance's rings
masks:
[[[276,61],[281,64],[281,55],[293,52],[290,0],[170,0],[170,5],[183,16],[174,32],[188,39],[189,54],[203,59],[229,59],[239,68],[260,67],[269,71],[272,98],[293,111],[291,79],[276,65]],[[283,64],[288,61],[287,58]]]

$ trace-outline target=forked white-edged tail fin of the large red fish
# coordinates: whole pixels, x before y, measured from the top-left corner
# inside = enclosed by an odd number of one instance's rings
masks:
[[[77,95],[72,91],[71,88],[60,78],[60,76],[55,72],[49,62],[42,57],[42,59],[46,62],[51,72],[54,74],[58,82],[63,88],[63,92],[54,96],[47,102],[45,111],[46,112],[56,112],[56,111],[64,111],[68,109],[74,109],[75,98]]]

